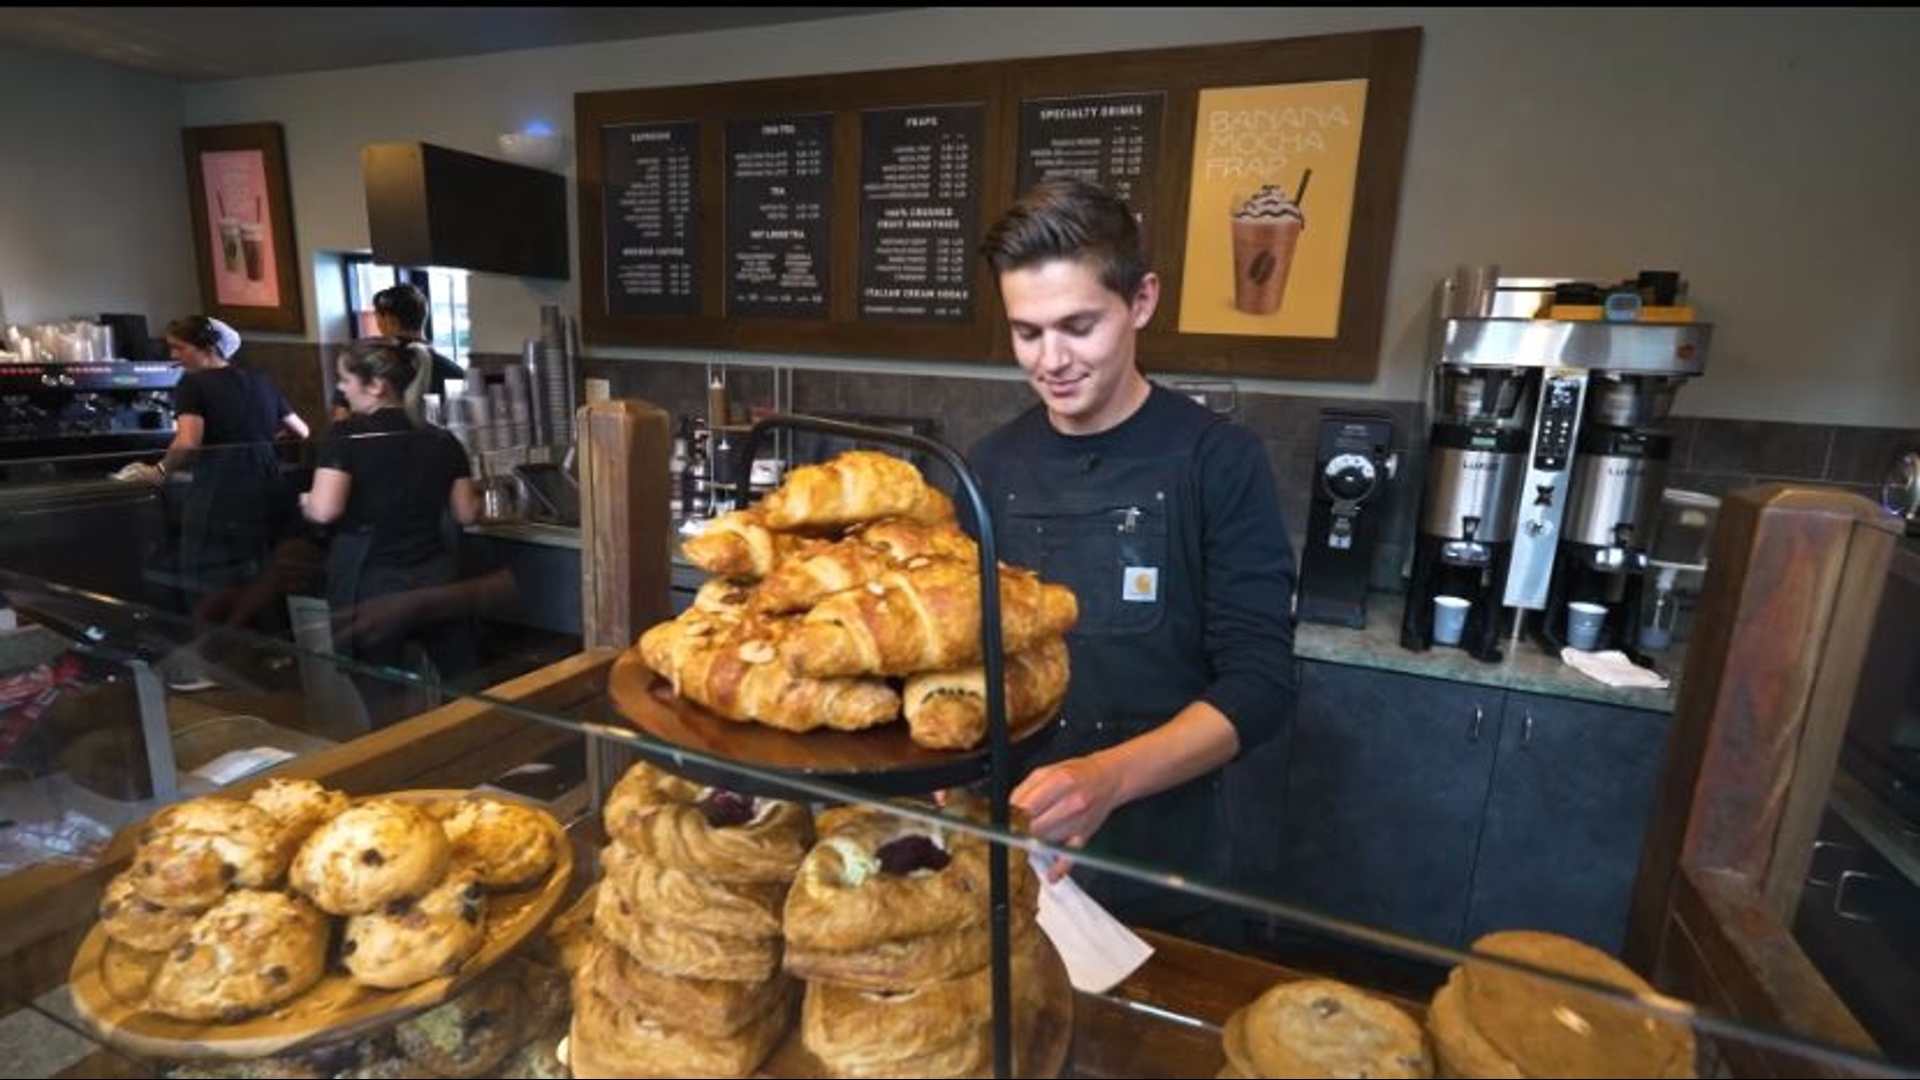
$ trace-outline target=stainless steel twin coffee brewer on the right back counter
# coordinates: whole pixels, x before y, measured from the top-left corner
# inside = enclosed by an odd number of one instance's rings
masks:
[[[1428,455],[1428,503],[1415,546],[1413,592],[1407,598],[1402,644],[1423,648],[1421,626],[1432,623],[1432,598],[1457,592],[1457,575],[1423,567],[1421,548],[1446,552],[1465,521],[1459,475],[1488,469],[1452,450],[1461,430],[1473,430],[1469,407],[1450,404],[1478,384],[1517,386],[1505,427],[1494,430],[1515,446],[1507,525],[1498,530],[1505,563],[1496,588],[1501,607],[1515,611],[1513,636],[1532,630],[1549,651],[1567,642],[1567,605],[1599,603],[1605,611],[1596,648],[1620,648],[1636,661],[1634,634],[1647,571],[1647,548],[1659,515],[1672,436],[1665,419],[1682,382],[1701,375],[1713,327],[1670,321],[1553,319],[1555,286],[1565,279],[1498,279],[1476,315],[1446,317],[1440,329],[1440,417]],[[1482,413],[1486,409],[1480,409]],[[1511,411],[1511,421],[1505,413]],[[1519,434],[1513,430],[1519,429]],[[1494,450],[1492,446],[1488,450]],[[1503,473],[1505,479],[1505,473]],[[1492,540],[1482,525],[1480,536]],[[1432,542],[1428,542],[1428,538]],[[1446,567],[1446,559],[1436,561]],[[1434,578],[1434,580],[1423,580]],[[1465,596],[1465,594],[1459,594]],[[1473,611],[1482,603],[1476,598]],[[1488,613],[1484,623],[1500,623]],[[1469,621],[1467,651],[1498,659],[1484,644],[1486,625]],[[1473,632],[1480,638],[1475,638]],[[1496,630],[1498,632],[1498,630]]]

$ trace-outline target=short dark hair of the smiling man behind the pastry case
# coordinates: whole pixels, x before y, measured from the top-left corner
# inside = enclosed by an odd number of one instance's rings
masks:
[[[1092,263],[1100,284],[1133,300],[1146,277],[1140,223],[1125,202],[1087,181],[1056,179],[1020,196],[979,244],[995,273],[1052,259]]]

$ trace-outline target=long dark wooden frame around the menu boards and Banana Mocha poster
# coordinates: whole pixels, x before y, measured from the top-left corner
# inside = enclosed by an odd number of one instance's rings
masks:
[[[977,102],[985,110],[979,148],[981,231],[1018,194],[1020,106],[1031,98],[1125,92],[1165,96],[1154,160],[1158,213],[1148,250],[1164,281],[1162,306],[1140,334],[1150,373],[1252,375],[1271,379],[1373,380],[1392,258],[1400,181],[1413,106],[1421,31],[1394,29],[1286,40],[1188,46],[860,71],[703,86],[582,92],[574,96],[580,204],[582,332],[595,344],[712,346],[766,352],[885,356],[1010,363],[1012,348],[996,284],[972,258],[973,311],[964,323],[860,319],[860,133],[866,110]],[[1200,94],[1221,86],[1269,86],[1363,79],[1365,115],[1357,150],[1338,327],[1331,336],[1242,336],[1179,332],[1187,202]],[[730,119],[833,113],[833,250],[828,319],[730,317],[726,311],[724,131]],[[603,129],[695,123],[701,208],[695,315],[611,311]],[[977,236],[970,238],[972,246]]]

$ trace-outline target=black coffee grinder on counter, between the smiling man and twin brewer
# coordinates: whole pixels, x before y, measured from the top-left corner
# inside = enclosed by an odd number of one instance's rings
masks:
[[[1367,586],[1384,492],[1400,469],[1386,413],[1321,409],[1313,503],[1300,552],[1300,619],[1367,626]]]

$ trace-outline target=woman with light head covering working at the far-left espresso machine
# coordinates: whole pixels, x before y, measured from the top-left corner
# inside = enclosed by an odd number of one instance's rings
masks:
[[[307,423],[263,371],[232,363],[240,334],[207,315],[167,323],[167,350],[186,369],[173,392],[175,432],[165,457],[138,475],[192,475],[180,525],[186,588],[257,575],[292,494],[280,480],[273,440],[307,438]]]

